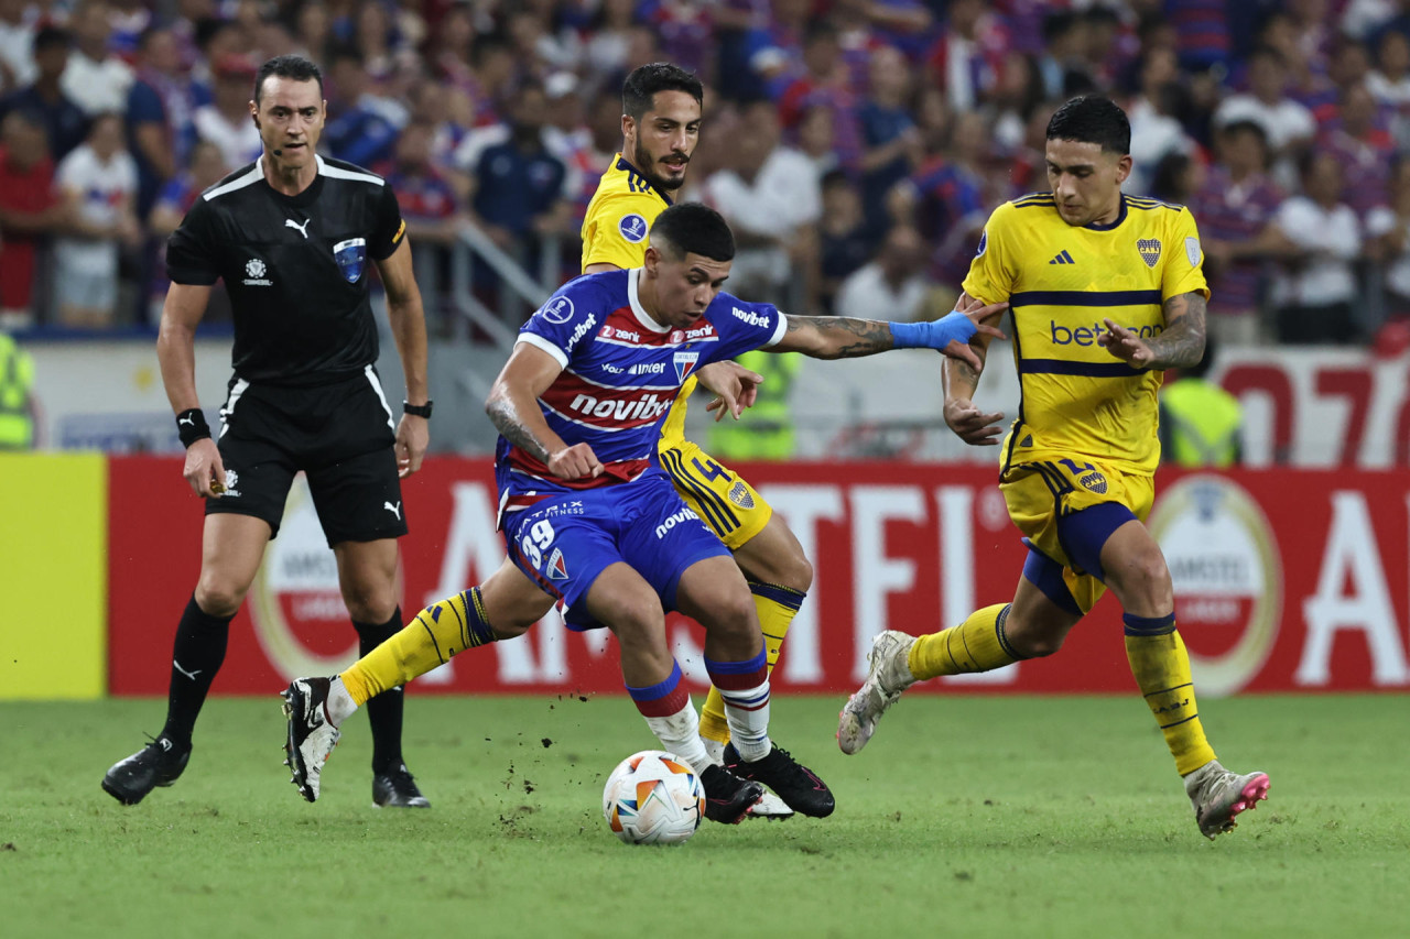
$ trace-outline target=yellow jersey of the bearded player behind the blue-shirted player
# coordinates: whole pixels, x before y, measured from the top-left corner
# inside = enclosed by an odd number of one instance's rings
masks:
[[[623,269],[646,264],[646,235],[670,204],[670,196],[649,183],[622,154],[613,155],[582,220],[582,269],[592,264]],[[685,441],[685,402],[697,383],[692,375],[677,392],[671,413],[661,424],[661,450]]]

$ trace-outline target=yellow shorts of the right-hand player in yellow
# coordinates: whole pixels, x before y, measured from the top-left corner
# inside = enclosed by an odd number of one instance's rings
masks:
[[[1008,505],[1008,517],[1024,537],[1062,564],[1063,582],[1084,613],[1101,599],[1107,588],[1096,577],[1073,565],[1058,537],[1058,519],[1103,502],[1117,502],[1144,523],[1155,502],[1155,481],[1151,477],[1084,460],[1010,467],[998,482],[998,491]]]

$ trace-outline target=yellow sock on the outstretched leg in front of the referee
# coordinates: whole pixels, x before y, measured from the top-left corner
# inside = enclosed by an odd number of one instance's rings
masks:
[[[405,685],[455,653],[495,642],[479,588],[431,603],[400,632],[343,673],[343,685],[361,708],[389,688]]]

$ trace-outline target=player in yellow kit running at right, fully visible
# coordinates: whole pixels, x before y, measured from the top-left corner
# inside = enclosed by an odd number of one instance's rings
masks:
[[[1052,192],[994,210],[963,283],[962,309],[1008,300],[1014,317],[1022,398],[1000,491],[1029,548],[1014,599],[939,633],[877,636],[838,743],[857,753],[916,681],[1053,654],[1110,588],[1125,612],[1131,671],[1213,839],[1266,798],[1269,780],[1225,770],[1204,737],[1170,572],[1144,524],[1160,458],[1156,391],[1163,369],[1200,361],[1208,289],[1190,211],[1122,195],[1129,145],[1127,116],[1107,99],[1058,109]],[[979,375],[946,364],[945,422],[970,444],[994,446],[1003,415],[974,406]]]

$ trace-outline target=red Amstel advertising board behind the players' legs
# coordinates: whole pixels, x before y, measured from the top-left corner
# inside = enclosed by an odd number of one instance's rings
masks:
[[[202,512],[180,461],[110,461],[110,691],[165,694],[171,642],[196,584]],[[1024,547],[991,468],[936,464],[740,467],[815,565],[774,673],[780,691],[845,692],[883,629],[925,633],[1012,596]],[[1176,584],[1180,633],[1206,694],[1410,688],[1410,472],[1162,474],[1149,524]],[[484,579],[503,557],[484,460],[439,458],[405,485],[402,609]],[[704,685],[702,632],[668,620]],[[272,694],[355,658],[333,556],[306,491],[231,630],[216,694]],[[420,692],[620,689],[615,642],[556,613],[529,636],[470,650]],[[955,692],[1129,692],[1121,612],[1105,598],[1052,658],[929,682]]]

